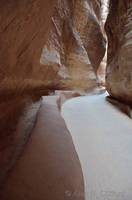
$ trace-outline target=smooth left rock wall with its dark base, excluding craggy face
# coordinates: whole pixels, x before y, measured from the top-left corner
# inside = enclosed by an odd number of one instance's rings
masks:
[[[54,3],[55,0],[0,1],[0,186],[35,123],[38,89],[45,89],[40,81],[43,73],[39,60]]]

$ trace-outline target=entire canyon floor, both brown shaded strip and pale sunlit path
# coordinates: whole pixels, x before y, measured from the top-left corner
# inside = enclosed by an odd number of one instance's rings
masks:
[[[2,200],[131,200],[132,121],[105,99],[44,97]],[[67,129],[68,128],[68,129]]]

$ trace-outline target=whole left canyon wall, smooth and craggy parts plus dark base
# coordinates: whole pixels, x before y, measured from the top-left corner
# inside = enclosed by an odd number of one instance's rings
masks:
[[[0,47],[1,182],[27,141],[40,96],[96,85],[105,52],[100,1],[1,0]]]

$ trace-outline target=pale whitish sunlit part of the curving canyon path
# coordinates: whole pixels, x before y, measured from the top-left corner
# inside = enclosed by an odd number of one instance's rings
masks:
[[[62,107],[85,178],[86,200],[132,200],[132,120],[103,95]]]

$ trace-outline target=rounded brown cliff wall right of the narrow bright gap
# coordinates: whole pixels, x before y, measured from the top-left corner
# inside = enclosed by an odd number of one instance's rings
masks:
[[[106,23],[108,35],[107,90],[132,104],[132,1],[111,0]]]

